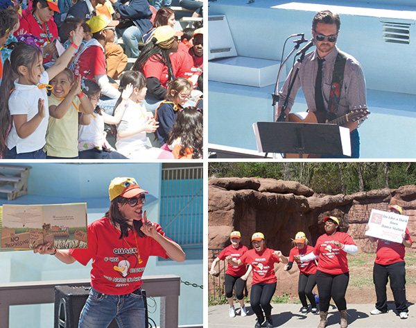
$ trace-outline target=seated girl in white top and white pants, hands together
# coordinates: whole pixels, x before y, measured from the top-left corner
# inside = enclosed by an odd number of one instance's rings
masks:
[[[146,136],[154,133],[159,127],[158,122],[146,108],[142,100],[146,97],[146,78],[141,72],[125,72],[120,79],[119,90],[127,90],[132,85],[125,112],[121,122],[117,125],[116,149],[128,158],[140,160],[173,158],[169,151],[151,147]],[[118,101],[123,101],[121,97]]]

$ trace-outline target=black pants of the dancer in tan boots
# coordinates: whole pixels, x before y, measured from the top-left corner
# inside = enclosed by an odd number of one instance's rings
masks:
[[[345,293],[349,281],[349,272],[341,274],[329,274],[321,271],[316,272],[316,284],[319,293],[319,309],[327,312],[331,297],[335,302],[338,311],[347,309]]]

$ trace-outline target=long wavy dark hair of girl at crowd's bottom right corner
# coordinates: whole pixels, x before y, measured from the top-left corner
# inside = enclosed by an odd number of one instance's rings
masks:
[[[192,158],[202,156],[203,142],[202,115],[195,107],[187,107],[177,113],[173,129],[169,132],[168,145],[171,145],[177,138],[180,138],[182,148],[180,156],[187,154],[187,148],[192,149]]]

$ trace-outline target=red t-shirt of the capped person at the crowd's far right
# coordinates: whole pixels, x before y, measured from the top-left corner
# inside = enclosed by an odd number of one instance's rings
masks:
[[[198,76],[202,73],[204,68],[204,58],[192,56],[191,49],[188,51],[177,51],[171,55],[171,61],[180,67],[177,71],[176,77],[184,77],[185,79],[191,79],[193,82],[198,81]]]

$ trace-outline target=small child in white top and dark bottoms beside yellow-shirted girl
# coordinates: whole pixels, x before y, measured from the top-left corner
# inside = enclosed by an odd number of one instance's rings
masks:
[[[119,124],[121,117],[124,115],[125,104],[129,92],[126,88],[122,93],[122,101],[116,109],[114,116],[104,113],[99,106],[101,89],[97,83],[92,80],[83,81],[83,92],[92,106],[95,108],[94,113],[89,115],[91,123],[89,125],[80,125],[78,132],[78,151],[80,159],[125,159],[127,157],[119,154],[110,146],[107,141],[107,133],[104,131],[104,124]]]

